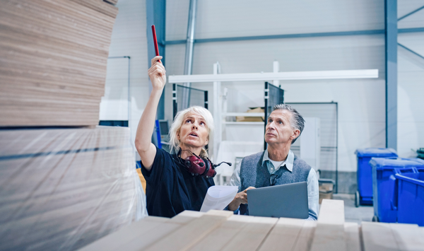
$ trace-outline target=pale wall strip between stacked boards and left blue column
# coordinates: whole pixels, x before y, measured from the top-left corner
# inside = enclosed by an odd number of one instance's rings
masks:
[[[146,40],[146,1],[119,0],[119,13],[112,31],[109,57],[131,57],[131,142],[149,96]],[[100,104],[100,119],[128,118],[128,59],[109,59],[107,62],[105,97]]]

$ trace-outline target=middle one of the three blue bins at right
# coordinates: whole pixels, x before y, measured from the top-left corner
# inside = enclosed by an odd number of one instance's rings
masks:
[[[418,173],[416,167],[424,168],[416,158],[372,158],[372,191],[374,215],[381,222],[394,223],[397,210],[394,209],[396,174]]]

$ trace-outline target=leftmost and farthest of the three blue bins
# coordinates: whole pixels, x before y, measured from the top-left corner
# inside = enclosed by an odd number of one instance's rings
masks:
[[[357,180],[359,204],[372,205],[372,168],[369,165],[371,158],[397,157],[392,148],[363,148],[355,151],[358,160]]]

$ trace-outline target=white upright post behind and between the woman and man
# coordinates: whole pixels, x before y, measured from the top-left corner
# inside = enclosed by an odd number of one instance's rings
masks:
[[[213,64],[213,75],[220,74],[220,64]],[[213,119],[215,119],[215,132],[213,134],[213,161],[218,156],[218,147],[222,140],[222,98],[220,91],[220,82],[213,82]]]

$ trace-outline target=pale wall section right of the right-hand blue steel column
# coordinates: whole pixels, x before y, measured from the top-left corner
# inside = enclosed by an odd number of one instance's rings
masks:
[[[423,0],[398,1],[398,17],[421,6]],[[398,27],[423,28],[424,10],[402,19]],[[424,33],[401,33],[398,42],[424,56]],[[424,59],[398,47],[399,156],[415,157],[415,150],[420,147],[424,147]]]

